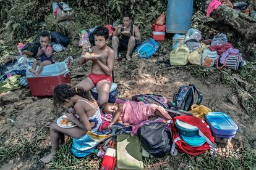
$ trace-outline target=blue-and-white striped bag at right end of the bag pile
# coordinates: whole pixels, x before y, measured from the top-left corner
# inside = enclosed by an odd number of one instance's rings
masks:
[[[242,54],[229,54],[226,59],[225,62],[222,64],[220,62],[220,57],[218,57],[218,59],[216,60],[216,67],[218,69],[221,69],[223,67],[227,67],[227,68],[231,68],[233,70],[237,70],[238,68],[242,67],[242,62],[244,60],[242,59]]]

